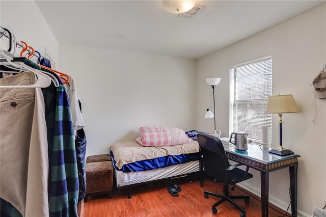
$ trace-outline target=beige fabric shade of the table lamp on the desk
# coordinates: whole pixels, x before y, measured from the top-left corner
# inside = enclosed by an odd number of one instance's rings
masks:
[[[267,114],[284,114],[298,111],[299,110],[291,94],[269,96],[267,99]]]

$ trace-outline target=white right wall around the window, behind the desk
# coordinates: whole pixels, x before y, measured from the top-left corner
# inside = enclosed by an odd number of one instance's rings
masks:
[[[292,94],[300,113],[283,115],[283,146],[301,155],[298,158],[298,213],[311,215],[314,207],[323,207],[326,199],[326,99],[317,99],[315,124],[313,90],[310,82],[326,62],[326,5],[280,23],[252,37],[239,41],[197,62],[197,129],[211,131],[213,122],[204,119],[212,108],[212,90],[207,77],[221,77],[216,86],[216,128],[222,137],[229,132],[229,67],[272,57],[273,94]],[[278,116],[273,115],[272,142],[278,145]],[[260,173],[243,187],[260,195]],[[270,173],[270,202],[286,209],[289,204],[288,169]],[[310,216],[309,215],[309,216]]]

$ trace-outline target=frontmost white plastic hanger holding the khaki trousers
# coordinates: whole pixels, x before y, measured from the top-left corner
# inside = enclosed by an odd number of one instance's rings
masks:
[[[5,59],[6,62],[0,62],[0,65],[4,66],[13,66],[18,69],[27,70],[34,72],[37,75],[37,80],[33,85],[7,85],[7,86],[0,86],[0,88],[46,88],[51,84],[51,79],[49,76],[36,70],[28,65],[25,65],[23,62],[12,62],[13,58],[6,55],[2,49],[0,49],[0,56],[2,59]],[[11,71],[11,73],[15,73]],[[16,72],[17,73],[17,72]]]

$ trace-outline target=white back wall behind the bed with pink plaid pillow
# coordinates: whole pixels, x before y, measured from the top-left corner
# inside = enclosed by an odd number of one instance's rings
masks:
[[[195,126],[195,61],[144,53],[60,46],[60,70],[76,83],[87,155],[137,138],[140,126]]]

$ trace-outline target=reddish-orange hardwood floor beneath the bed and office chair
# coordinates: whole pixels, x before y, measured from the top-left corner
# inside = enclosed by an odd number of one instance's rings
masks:
[[[194,181],[191,179],[193,178]],[[204,198],[203,191],[223,194],[223,183],[205,180],[203,187],[200,187],[199,181],[194,177],[185,177],[175,180],[182,191],[179,196],[173,197],[167,191],[168,184],[164,181],[158,181],[148,184],[134,186],[131,189],[132,199],[128,199],[128,189],[114,189],[112,199],[105,195],[90,196],[87,203],[83,205],[83,217],[232,217],[240,216],[240,210],[231,203],[225,201],[220,204],[217,214],[212,214],[211,206],[219,198],[209,196]],[[239,188],[235,191],[230,190],[230,195],[246,195]],[[245,204],[243,200],[236,200],[242,208],[246,210],[247,217],[261,216],[260,201],[250,197],[250,203]],[[283,213],[269,208],[269,216],[283,216]]]

